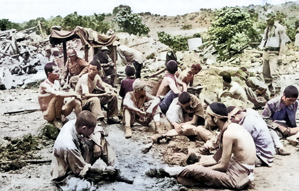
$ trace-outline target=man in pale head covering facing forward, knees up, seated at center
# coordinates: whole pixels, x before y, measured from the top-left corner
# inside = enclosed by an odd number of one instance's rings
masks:
[[[153,119],[155,128],[160,130],[160,99],[148,94],[145,91],[146,82],[139,78],[133,82],[133,90],[126,94],[124,99],[123,122],[126,127],[125,137],[132,137],[131,125],[138,122],[141,125],[148,125]]]

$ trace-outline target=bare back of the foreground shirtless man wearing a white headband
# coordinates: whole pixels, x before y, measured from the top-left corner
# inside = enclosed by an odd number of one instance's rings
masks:
[[[226,145],[231,145],[231,153],[236,161],[247,165],[254,164],[256,158],[255,144],[252,136],[243,126],[230,123],[223,134],[222,142],[223,152]]]

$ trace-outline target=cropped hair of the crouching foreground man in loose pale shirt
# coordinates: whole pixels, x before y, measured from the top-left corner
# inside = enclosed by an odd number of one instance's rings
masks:
[[[75,127],[82,128],[82,126],[86,126],[89,128],[94,128],[97,125],[97,119],[94,114],[90,111],[84,110],[79,113],[77,116]]]

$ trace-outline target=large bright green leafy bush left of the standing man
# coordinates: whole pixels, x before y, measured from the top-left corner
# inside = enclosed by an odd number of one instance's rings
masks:
[[[217,10],[215,20],[208,28],[208,35],[211,41],[218,41],[219,44],[232,39],[235,34],[249,34],[253,20],[250,13],[240,7],[224,7]]]

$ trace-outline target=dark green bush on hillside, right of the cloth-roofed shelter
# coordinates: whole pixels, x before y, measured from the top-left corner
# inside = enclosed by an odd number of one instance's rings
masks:
[[[130,7],[125,7],[112,19],[112,22],[118,24],[119,28],[130,35],[144,36],[149,32],[149,28],[142,24],[142,18],[136,13],[132,13]]]

